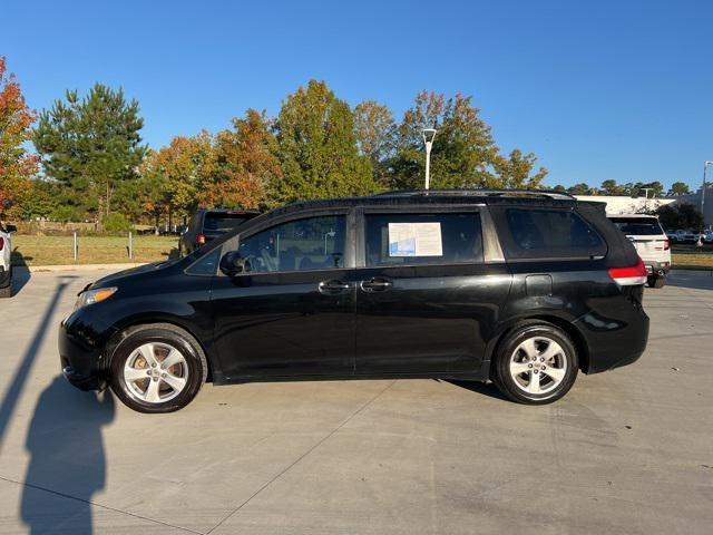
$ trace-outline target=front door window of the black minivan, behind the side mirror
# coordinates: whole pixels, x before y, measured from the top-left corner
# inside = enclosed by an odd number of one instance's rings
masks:
[[[343,215],[291,221],[241,240],[245,271],[333,270],[344,266]]]

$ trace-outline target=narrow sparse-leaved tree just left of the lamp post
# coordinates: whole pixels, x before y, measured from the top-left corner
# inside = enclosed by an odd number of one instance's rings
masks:
[[[359,152],[371,162],[374,181],[388,186],[388,165],[397,140],[397,125],[391,110],[375,100],[358,104],[354,108],[354,133]]]

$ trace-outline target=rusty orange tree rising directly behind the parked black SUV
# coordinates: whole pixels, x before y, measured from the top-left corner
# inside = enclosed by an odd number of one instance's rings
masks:
[[[282,178],[276,156],[277,140],[263,111],[248,109],[245,118],[234,118],[233,129],[215,138],[214,186],[202,195],[204,202],[223,206],[256,208]]]

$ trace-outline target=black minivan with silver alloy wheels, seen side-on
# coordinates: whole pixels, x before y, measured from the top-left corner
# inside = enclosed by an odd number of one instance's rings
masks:
[[[564,194],[303,202],[88,285],[59,353],[71,383],[144,412],[206,380],[492,380],[546,403],[641,357],[645,282],[600,206]]]

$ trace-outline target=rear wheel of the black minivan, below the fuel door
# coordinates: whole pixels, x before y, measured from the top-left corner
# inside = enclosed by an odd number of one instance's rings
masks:
[[[565,396],[578,371],[577,350],[565,331],[551,323],[528,323],[515,328],[499,344],[492,380],[512,401],[545,405]]]

